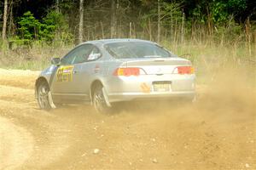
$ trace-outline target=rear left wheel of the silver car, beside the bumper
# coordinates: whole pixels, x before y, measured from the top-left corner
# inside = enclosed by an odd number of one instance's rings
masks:
[[[109,113],[110,107],[108,107],[106,99],[104,98],[102,85],[96,85],[94,88],[92,99],[93,99],[93,106],[99,113]]]

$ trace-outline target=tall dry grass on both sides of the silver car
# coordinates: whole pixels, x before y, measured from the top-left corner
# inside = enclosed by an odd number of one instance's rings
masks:
[[[183,44],[163,41],[163,46],[174,54],[192,61],[197,74],[197,82],[209,83],[225,69],[241,71],[244,77],[255,84],[256,79],[256,44],[251,44],[251,54],[246,42],[232,42],[225,45],[210,42],[189,42]],[[32,48],[17,47],[13,50],[4,48],[0,52],[0,67],[40,71],[49,66],[52,57],[61,57],[73,48],[73,44],[52,44],[36,42]]]

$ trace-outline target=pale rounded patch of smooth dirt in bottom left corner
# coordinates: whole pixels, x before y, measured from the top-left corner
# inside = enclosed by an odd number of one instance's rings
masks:
[[[0,116],[0,169],[20,167],[34,147],[32,134]]]

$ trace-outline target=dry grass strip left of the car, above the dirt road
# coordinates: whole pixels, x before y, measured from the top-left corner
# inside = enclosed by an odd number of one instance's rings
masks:
[[[32,47],[3,48],[3,52],[0,52],[0,67],[40,71],[49,65],[51,58],[62,57],[71,48],[73,44],[56,46],[44,43],[34,43]]]

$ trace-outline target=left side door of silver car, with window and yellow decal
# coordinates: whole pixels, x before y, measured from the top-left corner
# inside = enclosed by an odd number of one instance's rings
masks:
[[[91,44],[83,44],[74,48],[70,53],[61,59],[61,65],[55,73],[52,83],[53,96],[62,96],[65,98],[80,98],[83,94],[78,94],[77,87],[81,76],[81,65],[84,63],[90,51]]]

